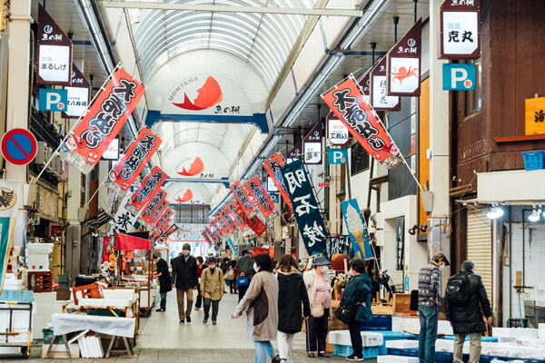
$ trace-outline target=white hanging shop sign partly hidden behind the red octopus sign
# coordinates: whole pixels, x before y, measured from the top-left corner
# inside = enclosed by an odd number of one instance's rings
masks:
[[[372,108],[376,111],[400,111],[400,97],[388,95],[387,83],[390,74],[388,68],[386,68],[386,58],[385,56],[382,57],[381,61],[370,72]]]

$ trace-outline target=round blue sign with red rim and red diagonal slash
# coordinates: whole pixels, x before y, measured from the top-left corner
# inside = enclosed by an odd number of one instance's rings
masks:
[[[36,156],[36,138],[25,129],[13,129],[2,137],[2,155],[15,165],[32,162]]]

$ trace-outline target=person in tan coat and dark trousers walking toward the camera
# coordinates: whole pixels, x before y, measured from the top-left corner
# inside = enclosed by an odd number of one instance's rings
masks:
[[[223,271],[216,268],[217,260],[214,257],[208,259],[208,268],[201,275],[201,296],[204,302],[203,324],[208,322],[210,305],[212,305],[212,324],[217,324],[220,300],[223,297]]]

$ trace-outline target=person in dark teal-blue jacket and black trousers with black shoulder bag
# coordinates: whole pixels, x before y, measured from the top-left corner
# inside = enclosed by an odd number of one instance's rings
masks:
[[[358,308],[356,309],[352,321],[348,323],[353,353],[346,359],[360,361],[363,360],[362,333],[360,327],[362,326],[362,321],[369,321],[372,319],[370,294],[372,287],[371,278],[367,275],[365,270],[364,260],[358,258],[352,259],[350,261],[350,271],[353,277],[342,293],[342,304],[347,308],[355,306]]]

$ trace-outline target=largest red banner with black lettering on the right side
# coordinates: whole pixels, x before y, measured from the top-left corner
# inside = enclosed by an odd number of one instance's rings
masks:
[[[322,98],[377,162],[390,170],[402,163],[401,152],[391,142],[389,134],[352,77],[323,94]]]

